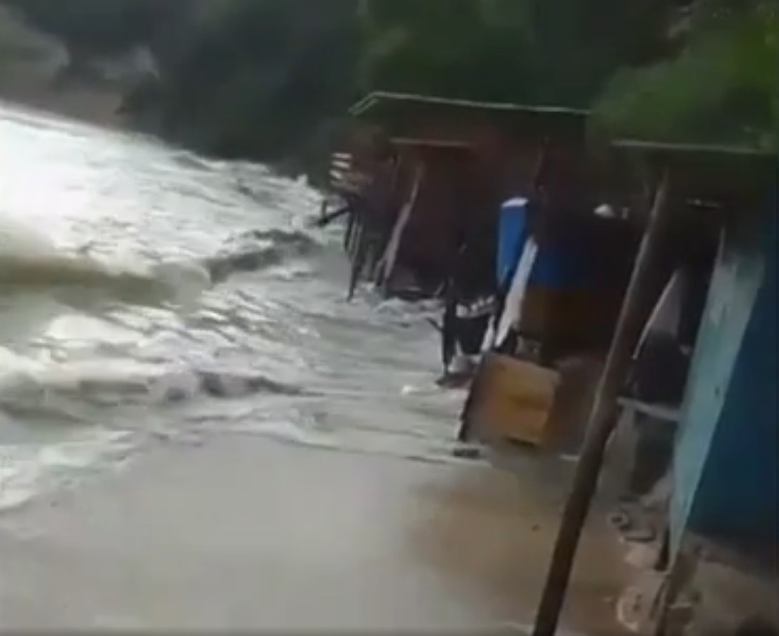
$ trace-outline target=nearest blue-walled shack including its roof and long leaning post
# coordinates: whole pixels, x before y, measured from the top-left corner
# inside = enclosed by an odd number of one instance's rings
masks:
[[[677,424],[668,532],[656,564],[660,583],[642,593],[648,610],[642,624],[633,627],[663,636],[775,634],[777,157],[738,148],[631,141],[616,143],[615,150],[654,183],[653,203],[590,412],[534,634],[555,634],[626,375],[657,306],[658,271],[667,261],[664,246],[680,220],[689,227],[689,219],[700,233],[714,228],[717,245],[682,398],[678,408],[663,409]]]

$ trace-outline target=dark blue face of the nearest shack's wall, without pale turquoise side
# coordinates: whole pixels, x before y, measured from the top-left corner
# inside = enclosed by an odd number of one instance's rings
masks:
[[[763,282],[736,359],[689,525],[745,548],[779,542],[779,251],[763,234]]]

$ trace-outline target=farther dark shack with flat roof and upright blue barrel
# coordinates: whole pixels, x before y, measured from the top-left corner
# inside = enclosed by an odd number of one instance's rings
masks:
[[[385,140],[395,161],[389,211],[373,233],[378,248],[355,250],[351,287],[362,274],[386,295],[446,299],[443,381],[459,381],[453,359],[477,364],[489,323],[502,313],[531,207],[552,210],[555,220],[531,275],[523,339],[552,357],[608,346],[635,232],[625,219],[593,214],[615,193],[602,187],[588,153],[587,111],[374,93],[351,115],[358,135]],[[597,277],[600,284],[590,284]],[[462,376],[470,375],[466,367]]]

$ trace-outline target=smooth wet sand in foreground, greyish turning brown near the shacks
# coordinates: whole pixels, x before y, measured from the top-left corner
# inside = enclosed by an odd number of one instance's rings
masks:
[[[561,479],[256,437],[168,444],[0,517],[0,627],[458,630],[531,622]],[[587,533],[565,623],[616,634]]]

